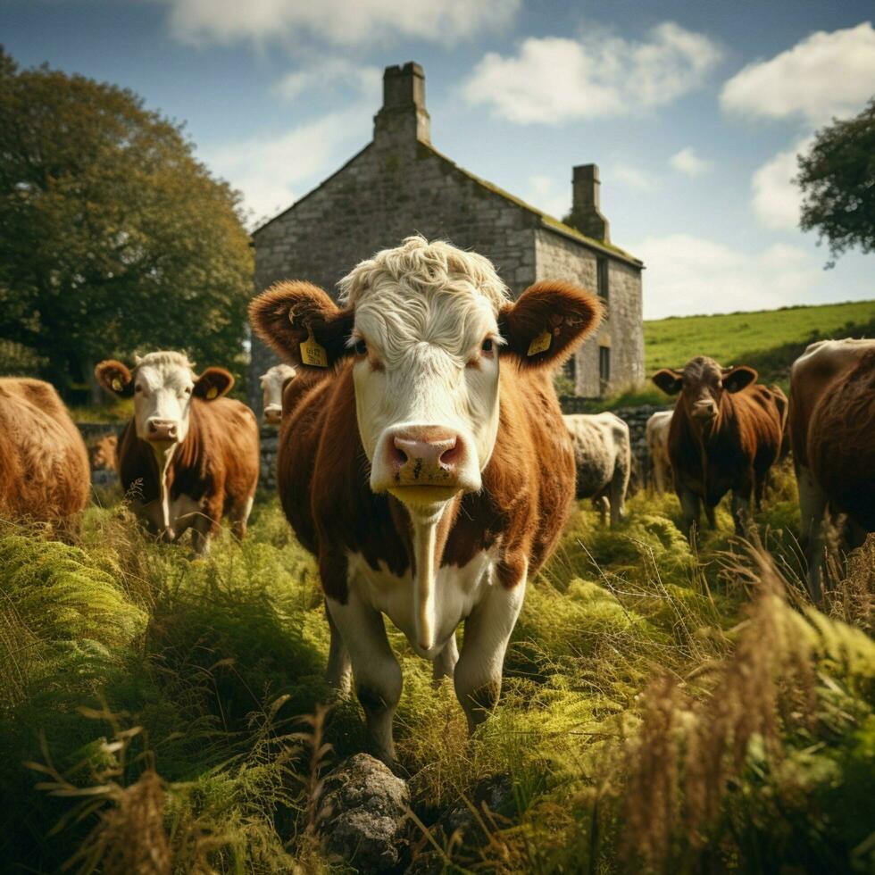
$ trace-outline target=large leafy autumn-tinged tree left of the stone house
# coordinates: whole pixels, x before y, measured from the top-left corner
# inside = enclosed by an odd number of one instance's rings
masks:
[[[0,338],[58,387],[155,348],[242,370],[240,196],[193,151],[131,91],[0,48]]]

